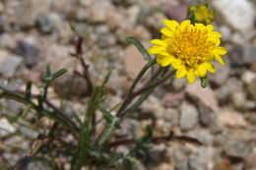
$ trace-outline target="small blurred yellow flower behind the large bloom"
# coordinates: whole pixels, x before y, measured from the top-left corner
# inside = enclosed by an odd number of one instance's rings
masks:
[[[210,10],[206,5],[191,6],[189,13],[193,13],[195,22],[206,25],[211,24],[215,18],[214,10]]]

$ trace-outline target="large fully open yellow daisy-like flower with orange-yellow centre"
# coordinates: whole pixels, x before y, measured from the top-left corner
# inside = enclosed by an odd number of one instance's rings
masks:
[[[180,25],[173,20],[164,20],[167,28],[161,28],[161,39],[153,39],[156,44],[149,49],[151,54],[158,54],[157,62],[160,66],[171,65],[176,70],[176,78],[187,77],[190,84],[195,82],[195,77],[204,78],[207,71],[215,73],[216,69],[212,60],[217,60],[224,65],[220,55],[226,50],[219,46],[222,34],[213,31],[214,26],[203,24],[191,25],[189,20]]]

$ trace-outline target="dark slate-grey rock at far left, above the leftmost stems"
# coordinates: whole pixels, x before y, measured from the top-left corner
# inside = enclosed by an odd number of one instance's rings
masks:
[[[16,54],[23,56],[26,66],[32,67],[37,64],[39,59],[39,50],[37,47],[27,41],[19,41],[15,50]]]

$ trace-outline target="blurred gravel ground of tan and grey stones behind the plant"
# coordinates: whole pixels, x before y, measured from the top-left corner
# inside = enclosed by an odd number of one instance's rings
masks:
[[[173,131],[203,144],[156,144],[138,162],[140,170],[256,169],[256,1],[207,2],[216,10],[216,30],[223,33],[222,43],[228,51],[225,66],[215,63],[218,71],[209,75],[207,88],[199,82],[188,85],[185,79],[157,88],[117,132],[141,136],[146,125],[153,124],[156,136]],[[149,48],[152,38],[160,38],[161,21],[183,21],[191,4],[195,1],[0,0],[0,84],[24,89],[32,80],[36,94],[40,88],[35,85],[40,84],[48,63],[53,71],[67,68],[69,72],[49,88],[48,97],[56,105],[64,97],[69,112],[83,113],[87,89],[84,80],[74,76],[81,68],[70,57],[76,37],[71,24],[84,38],[84,57],[94,82],[112,69],[105,103],[110,108],[122,101],[146,63],[125,38],[134,36]],[[20,117],[24,108],[0,100],[0,165],[16,165],[31,148],[32,139],[46,131],[39,127],[52,125],[47,119],[38,123],[33,114]],[[29,169],[47,168],[32,162]]]

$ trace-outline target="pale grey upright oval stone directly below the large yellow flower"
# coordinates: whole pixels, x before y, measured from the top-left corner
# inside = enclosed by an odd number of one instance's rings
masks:
[[[190,130],[198,123],[198,111],[195,106],[183,102],[180,106],[179,125],[182,130]]]

